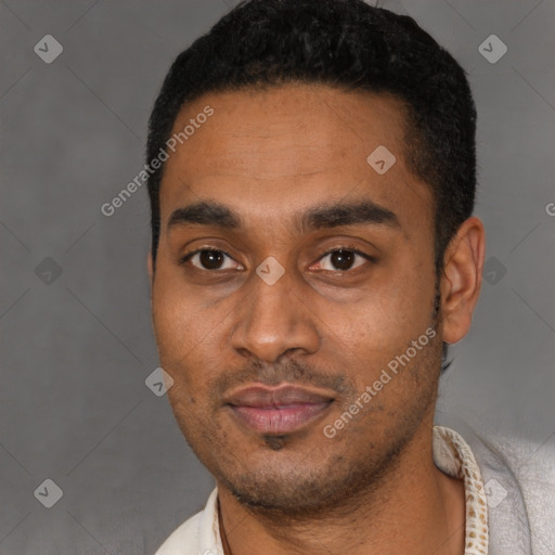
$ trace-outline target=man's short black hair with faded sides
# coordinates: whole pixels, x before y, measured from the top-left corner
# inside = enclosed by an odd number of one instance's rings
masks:
[[[405,162],[434,193],[439,275],[446,247],[474,209],[476,106],[465,70],[406,15],[363,0],[241,2],[171,65],[149,120],[147,164],[188,102],[288,82],[389,94],[403,103]],[[164,165],[147,178],[153,264],[163,172]]]

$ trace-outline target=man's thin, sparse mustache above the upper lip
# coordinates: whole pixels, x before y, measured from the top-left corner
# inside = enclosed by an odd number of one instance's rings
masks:
[[[254,382],[267,386],[276,386],[286,382],[298,386],[331,389],[339,396],[356,395],[356,387],[347,380],[344,373],[318,370],[289,359],[280,364],[255,360],[240,370],[225,372],[212,385],[214,399],[221,399],[232,388]]]

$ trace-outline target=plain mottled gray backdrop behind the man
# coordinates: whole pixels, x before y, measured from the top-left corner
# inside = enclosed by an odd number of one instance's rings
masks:
[[[145,386],[158,365],[146,191],[109,218],[100,207],[142,168],[169,64],[232,3],[0,2],[2,555],[150,554],[212,488],[166,397]],[[517,466],[546,472],[555,459],[555,2],[380,4],[415,17],[457,57],[479,113],[487,281],[442,380],[438,418],[519,440]],[[478,50],[492,34],[508,48],[494,64]],[[64,49],[51,64],[34,52],[46,35]],[[34,495],[47,478],[63,490],[52,508]],[[541,537],[534,547],[555,554]]]

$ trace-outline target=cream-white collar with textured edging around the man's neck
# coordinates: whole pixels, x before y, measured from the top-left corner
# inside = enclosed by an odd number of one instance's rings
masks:
[[[440,470],[454,478],[464,479],[466,504],[464,555],[493,555],[492,551],[488,551],[488,499],[473,451],[462,436],[444,426],[434,426],[433,451],[434,462]],[[177,528],[156,555],[223,555],[217,499],[216,488],[210,493],[204,511]]]

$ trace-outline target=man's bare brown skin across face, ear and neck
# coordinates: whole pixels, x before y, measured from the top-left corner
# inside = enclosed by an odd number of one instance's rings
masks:
[[[199,460],[216,477],[233,555],[464,552],[464,485],[431,456],[441,340],[467,333],[485,251],[481,222],[460,228],[444,257],[434,319],[434,204],[404,163],[402,104],[315,85],[206,94],[175,131],[215,113],[166,163],[153,271],[153,322],[168,397]],[[383,176],[366,157],[386,145]],[[181,223],[173,210],[217,201],[242,225]],[[297,228],[323,204],[372,201],[397,224]],[[337,268],[330,249],[357,248]],[[221,267],[203,269],[199,248]],[[205,254],[206,255],[206,254]],[[268,285],[267,257],[284,268]],[[209,259],[208,259],[209,262]],[[211,267],[214,268],[214,267]],[[334,423],[389,361],[430,325],[436,337],[330,439]],[[333,397],[315,421],[282,437],[246,428],[224,406],[241,385],[300,384]]]

